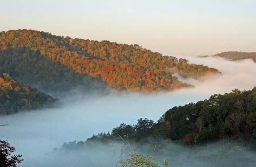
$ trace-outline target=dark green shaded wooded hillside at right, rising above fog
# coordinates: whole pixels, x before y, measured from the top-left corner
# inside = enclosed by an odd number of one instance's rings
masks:
[[[122,123],[111,133],[101,133],[87,142],[120,141],[151,142],[167,140],[200,144],[223,139],[256,144],[256,87],[252,91],[235,89],[224,95],[169,109],[156,123],[140,119],[135,125]]]

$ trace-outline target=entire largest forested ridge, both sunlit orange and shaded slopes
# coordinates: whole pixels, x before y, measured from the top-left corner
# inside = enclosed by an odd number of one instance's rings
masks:
[[[0,72],[47,91],[85,84],[89,90],[104,87],[104,83],[117,91],[169,91],[190,86],[172,73],[191,78],[220,73],[139,45],[72,39],[34,30],[1,32],[0,50]]]

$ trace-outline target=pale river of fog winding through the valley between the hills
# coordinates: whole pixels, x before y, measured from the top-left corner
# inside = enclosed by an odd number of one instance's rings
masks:
[[[75,98],[63,98],[61,101],[64,106],[61,108],[1,116],[0,123],[9,124],[9,126],[1,127],[0,138],[8,140],[11,145],[15,146],[16,154],[23,155],[24,161],[20,166],[51,166],[49,163],[55,158],[47,159],[50,157],[47,156],[48,152],[60,147],[64,142],[85,141],[91,135],[110,131],[122,122],[134,124],[141,117],[157,121],[167,109],[173,106],[208,99],[212,94],[231,92],[235,88],[244,90],[256,86],[256,64],[252,60],[228,61],[213,57],[185,58],[191,63],[215,67],[221,71],[222,75],[205,81],[181,78],[195,87],[169,93],[110,94],[95,95],[90,98],[75,95]],[[73,95],[70,94],[69,97],[71,96]],[[108,154],[111,155],[111,153]],[[89,157],[93,158],[93,155]],[[83,156],[88,157],[88,155]],[[68,157],[69,160],[67,157],[62,157],[65,166],[79,164],[74,162],[77,158],[71,158],[70,155]],[[91,161],[99,160],[91,159]],[[59,163],[63,166],[63,163]],[[52,166],[56,165],[55,163]]]

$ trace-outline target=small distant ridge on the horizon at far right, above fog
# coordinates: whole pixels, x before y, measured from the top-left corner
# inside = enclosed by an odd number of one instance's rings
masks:
[[[226,58],[228,60],[243,60],[243,59],[252,59],[256,62],[256,52],[221,52],[214,54],[213,56],[218,56]]]

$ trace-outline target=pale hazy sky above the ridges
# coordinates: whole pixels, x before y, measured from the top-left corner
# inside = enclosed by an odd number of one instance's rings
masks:
[[[256,52],[256,1],[1,0],[0,31],[9,29],[139,44],[177,55]]]

